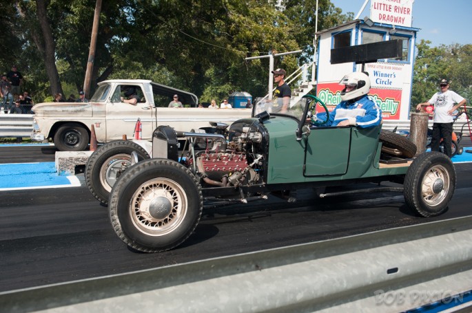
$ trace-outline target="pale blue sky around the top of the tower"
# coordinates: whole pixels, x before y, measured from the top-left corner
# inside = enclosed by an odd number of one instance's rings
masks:
[[[331,0],[343,13],[358,14],[365,0]],[[371,1],[367,3],[360,19],[369,16]],[[421,39],[431,41],[431,47],[439,45],[471,44],[470,18],[471,0],[415,0],[413,2],[413,22],[411,27],[420,28],[416,34],[417,43]]]

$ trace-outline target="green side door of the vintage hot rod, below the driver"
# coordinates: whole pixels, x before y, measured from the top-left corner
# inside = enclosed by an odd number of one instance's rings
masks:
[[[307,177],[343,175],[349,164],[352,127],[317,127],[311,130],[305,150]]]

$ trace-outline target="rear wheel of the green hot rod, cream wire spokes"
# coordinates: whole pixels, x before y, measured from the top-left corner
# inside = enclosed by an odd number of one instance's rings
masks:
[[[418,155],[404,180],[403,195],[410,208],[424,217],[447,211],[455,190],[455,169],[451,159],[440,152]]]

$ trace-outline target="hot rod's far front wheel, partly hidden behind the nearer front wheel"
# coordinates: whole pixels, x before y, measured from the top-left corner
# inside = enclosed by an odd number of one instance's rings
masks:
[[[132,141],[115,140],[103,144],[90,155],[85,165],[85,182],[90,193],[105,206],[116,180],[131,166],[131,153],[138,161],[149,159],[147,151]]]

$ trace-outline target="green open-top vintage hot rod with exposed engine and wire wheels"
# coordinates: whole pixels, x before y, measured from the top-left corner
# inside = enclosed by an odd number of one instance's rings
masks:
[[[447,210],[456,180],[447,156],[415,156],[412,142],[380,127],[307,123],[317,105],[329,114],[318,98],[305,96],[286,112],[272,102],[258,104],[252,118],[227,129],[214,124],[205,132],[181,132],[161,126],[152,151],[134,142],[110,142],[90,157],[87,184],[108,205],[115,233],[143,252],[185,241],[207,202],[249,204],[271,193],[293,201],[300,188],[396,182],[419,215]],[[178,149],[182,139],[185,147]]]

